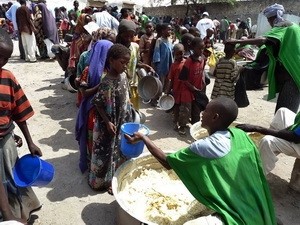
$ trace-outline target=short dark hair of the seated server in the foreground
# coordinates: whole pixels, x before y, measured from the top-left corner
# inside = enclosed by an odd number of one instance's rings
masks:
[[[220,96],[212,100],[214,110],[221,118],[221,125],[228,127],[238,116],[238,106],[236,102],[228,97]]]

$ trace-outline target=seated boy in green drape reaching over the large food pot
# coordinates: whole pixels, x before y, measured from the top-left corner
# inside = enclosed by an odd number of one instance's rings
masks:
[[[142,140],[199,202],[216,212],[204,218],[212,221],[207,224],[274,225],[274,207],[257,148],[244,131],[228,128],[237,115],[232,99],[212,100],[201,119],[209,136],[169,155],[141,133],[126,137],[129,142]],[[194,224],[203,224],[201,219]]]

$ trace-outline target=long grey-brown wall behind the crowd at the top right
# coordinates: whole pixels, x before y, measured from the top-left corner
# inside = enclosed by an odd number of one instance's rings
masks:
[[[189,15],[192,15],[194,9],[199,11],[207,11],[210,14],[210,18],[217,17],[218,19],[227,16],[229,20],[235,21],[237,18],[245,20],[247,17],[252,19],[252,24],[257,21],[258,13],[260,13],[265,7],[272,5],[274,3],[282,4],[286,10],[286,13],[300,15],[300,1],[299,0],[254,0],[254,1],[244,1],[237,2],[234,6],[226,3],[209,3],[209,4],[199,4],[196,6],[191,6]],[[147,15],[151,16],[171,16],[184,18],[187,10],[186,5],[174,5],[166,7],[147,7],[143,8],[143,11]]]

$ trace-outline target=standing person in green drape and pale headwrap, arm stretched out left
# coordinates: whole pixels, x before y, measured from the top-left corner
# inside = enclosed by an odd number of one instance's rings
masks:
[[[230,43],[265,45],[269,56],[268,100],[279,93],[275,112],[285,107],[297,113],[300,103],[300,27],[283,18],[284,7],[274,4],[263,14],[272,29],[264,37],[230,40]]]

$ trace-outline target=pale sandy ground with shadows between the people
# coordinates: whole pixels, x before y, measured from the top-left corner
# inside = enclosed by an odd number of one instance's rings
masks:
[[[78,168],[79,151],[74,139],[77,108],[76,95],[61,88],[63,71],[55,61],[25,63],[20,61],[15,44],[13,57],[5,66],[11,70],[30,100],[35,115],[28,120],[33,140],[43,151],[43,158],[56,169],[54,180],[46,187],[34,187],[43,208],[32,216],[33,224],[116,224],[117,202],[107,193],[91,190],[86,174]],[[208,86],[210,96],[212,83]],[[239,121],[268,126],[275,101],[266,101],[267,90],[248,91],[250,105],[241,108]],[[173,131],[172,117],[164,111],[142,105],[151,139],[164,150],[176,150],[192,143],[189,135]],[[16,133],[20,133],[16,129]],[[27,146],[19,155],[28,153]],[[268,178],[278,218],[285,225],[300,224],[300,194],[288,188],[294,159],[280,156]],[[253,215],[255,216],[255,215]]]

